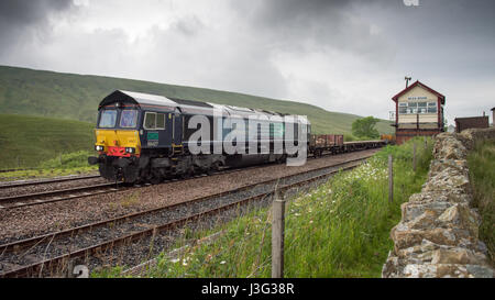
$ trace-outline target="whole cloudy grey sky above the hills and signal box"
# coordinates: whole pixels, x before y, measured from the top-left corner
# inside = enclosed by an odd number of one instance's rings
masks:
[[[495,107],[492,0],[0,0],[0,65],[381,119],[405,76],[446,96],[450,124]]]

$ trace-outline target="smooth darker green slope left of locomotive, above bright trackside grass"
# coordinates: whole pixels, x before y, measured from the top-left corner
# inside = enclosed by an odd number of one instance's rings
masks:
[[[92,151],[94,124],[51,118],[0,114],[0,169],[36,167],[61,153]]]

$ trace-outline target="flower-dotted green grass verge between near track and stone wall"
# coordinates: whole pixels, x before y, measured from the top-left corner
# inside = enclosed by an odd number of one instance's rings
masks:
[[[380,277],[388,251],[391,229],[400,220],[400,203],[420,191],[431,159],[430,142],[418,147],[413,171],[414,140],[387,146],[356,169],[340,173],[318,188],[287,203],[285,230],[286,277]],[[387,155],[395,157],[395,199],[388,202]],[[250,213],[212,230],[188,234],[200,238],[224,234],[210,245],[190,247],[179,259],[163,254],[148,277],[271,277],[271,211]],[[188,241],[177,242],[180,247]],[[122,269],[122,266],[119,267]],[[105,270],[94,274],[118,276]]]

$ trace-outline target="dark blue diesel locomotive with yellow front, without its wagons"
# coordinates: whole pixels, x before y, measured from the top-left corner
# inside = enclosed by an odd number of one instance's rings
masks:
[[[285,148],[274,152],[274,143],[280,140],[287,142],[285,132],[288,126],[294,129],[292,142],[295,144],[299,141],[298,134],[309,137],[311,129],[307,121],[306,126],[300,126],[297,121],[300,119],[294,118],[295,121],[290,122],[280,118],[278,122],[271,121],[266,126],[253,130],[248,122],[250,116],[285,115],[124,90],[117,90],[107,96],[98,110],[95,129],[95,149],[98,156],[89,157],[88,163],[98,165],[103,178],[130,184],[157,184],[168,178],[209,174],[223,167],[283,163],[288,154]],[[221,111],[221,116],[216,118],[215,111]],[[210,138],[201,138],[202,145],[208,144],[211,148],[218,144],[222,145],[229,131],[239,130],[235,126],[226,130],[222,122],[226,116],[235,115],[238,121],[245,121],[245,146],[248,147],[250,138],[256,138],[258,142],[267,142],[260,143],[257,147],[268,145],[270,149],[263,152],[257,148],[255,153],[244,151],[228,154],[224,151],[212,151],[207,154],[193,154],[189,140],[198,129],[190,129],[188,124],[196,115],[206,118],[210,124],[220,124],[209,126]],[[305,129],[305,132],[300,129]]]

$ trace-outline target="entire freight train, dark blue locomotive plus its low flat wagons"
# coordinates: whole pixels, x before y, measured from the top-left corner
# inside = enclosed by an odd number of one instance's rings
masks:
[[[315,156],[380,147],[385,143],[344,143],[342,135],[312,135],[309,121],[300,116],[124,90],[107,96],[98,111],[95,129],[98,156],[88,157],[88,163],[98,165],[103,178],[129,184],[158,184],[222,167],[284,163],[298,155],[285,145],[301,146],[299,141],[307,141],[307,155]],[[198,120],[208,121],[209,125],[190,126]],[[201,136],[191,142],[199,131],[208,138]],[[243,137],[232,142],[234,152],[223,148],[229,136]],[[250,142],[256,142],[252,143],[254,152],[248,149]],[[204,152],[194,151],[198,145]]]

